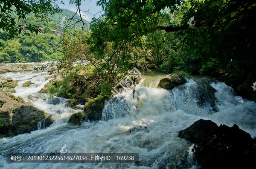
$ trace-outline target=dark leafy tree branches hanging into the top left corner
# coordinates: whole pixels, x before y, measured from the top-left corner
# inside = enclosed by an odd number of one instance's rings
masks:
[[[0,11],[0,39],[9,40],[17,37],[23,27],[38,34],[37,25],[24,21],[26,15],[34,14],[41,21],[49,22],[49,15],[61,12],[61,9],[53,0],[0,0]]]

